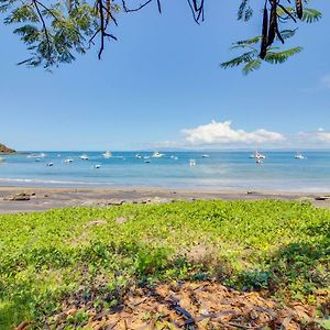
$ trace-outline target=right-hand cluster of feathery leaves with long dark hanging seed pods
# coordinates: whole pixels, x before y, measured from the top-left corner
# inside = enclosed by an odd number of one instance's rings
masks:
[[[243,74],[258,69],[262,62],[279,64],[286,62],[293,55],[302,51],[300,46],[282,50],[274,44],[284,44],[286,40],[295,36],[297,28],[289,26],[280,30],[280,26],[298,21],[314,23],[321,19],[322,14],[316,9],[307,8],[309,0],[265,0],[262,14],[262,31],[260,36],[239,41],[233,44],[232,50],[244,50],[244,53],[221,64],[222,68],[243,65]],[[293,7],[295,2],[295,7]],[[284,6],[289,4],[289,7]],[[239,20],[249,21],[253,9],[250,0],[242,0],[238,12]],[[245,52],[245,50],[250,50]]]

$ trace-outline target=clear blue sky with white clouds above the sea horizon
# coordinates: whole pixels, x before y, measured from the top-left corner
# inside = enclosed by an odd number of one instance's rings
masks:
[[[139,1],[138,1],[139,2]],[[186,1],[119,14],[101,61],[26,68],[25,46],[2,26],[0,142],[21,151],[237,147],[330,148],[330,1],[287,47],[304,52],[249,76],[219,64],[232,42],[260,34],[237,21],[239,1],[208,1],[197,25]],[[139,2],[140,3],[140,2]]]

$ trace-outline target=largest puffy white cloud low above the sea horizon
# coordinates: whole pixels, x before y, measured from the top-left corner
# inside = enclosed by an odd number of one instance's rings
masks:
[[[195,129],[183,130],[185,140],[190,145],[217,145],[217,144],[265,144],[279,143],[286,139],[277,132],[258,129],[246,132],[244,130],[234,130],[230,121],[217,122],[197,127]]]

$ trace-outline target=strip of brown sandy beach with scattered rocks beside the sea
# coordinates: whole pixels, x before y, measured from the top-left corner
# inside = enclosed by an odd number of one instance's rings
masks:
[[[329,198],[327,198],[329,196]],[[182,190],[160,188],[0,187],[0,213],[45,211],[67,207],[107,207],[122,204],[163,204],[172,200],[309,200],[330,209],[330,193],[275,190]],[[323,199],[323,200],[321,200]]]

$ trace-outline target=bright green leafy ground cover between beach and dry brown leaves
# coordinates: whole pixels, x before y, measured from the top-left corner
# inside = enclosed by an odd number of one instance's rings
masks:
[[[72,294],[98,293],[95,304],[111,308],[132,284],[179,279],[213,278],[317,305],[318,293],[330,287],[329,255],[330,210],[307,201],[174,201],[4,215],[0,329],[22,320],[38,329]],[[76,315],[73,322],[86,317]]]

